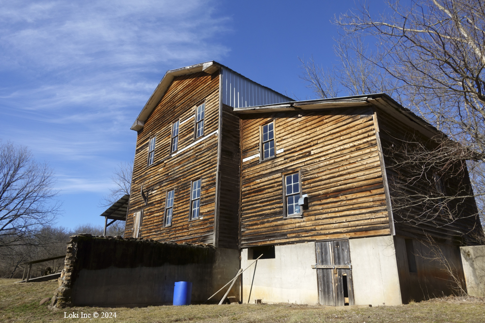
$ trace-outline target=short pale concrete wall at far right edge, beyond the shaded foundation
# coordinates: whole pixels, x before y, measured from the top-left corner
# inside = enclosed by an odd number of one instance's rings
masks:
[[[460,247],[460,253],[468,294],[485,297],[485,246]]]

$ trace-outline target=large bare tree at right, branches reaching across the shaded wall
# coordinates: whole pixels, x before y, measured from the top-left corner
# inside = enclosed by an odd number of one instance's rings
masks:
[[[338,63],[331,70],[333,76],[329,71],[324,74],[322,68],[313,68],[314,62],[310,62],[306,64],[302,78],[313,88],[323,83],[322,89],[329,87],[325,81],[333,85],[337,80],[339,86],[334,92],[350,95],[387,92],[458,142],[458,145],[450,145],[443,138],[430,138],[434,143],[422,146],[414,138],[401,138],[401,147],[394,149],[392,154],[403,157],[394,161],[396,174],[403,177],[394,181],[393,190],[401,192],[403,208],[407,199],[408,207],[420,203],[423,210],[435,210],[434,214],[422,212],[429,220],[441,218],[446,211],[453,221],[458,209],[450,209],[450,205],[456,205],[453,203],[470,195],[477,201],[478,212],[483,216],[485,3],[418,0],[406,2],[407,6],[399,1],[388,1],[387,4],[387,14],[374,15],[364,3],[358,10],[336,18],[335,24],[342,36],[334,47]],[[316,76],[320,76],[320,83],[315,82]],[[443,169],[446,168],[443,160],[453,160],[449,165],[455,167],[461,165],[457,169],[468,167],[473,192],[459,189],[446,196],[437,196],[433,189],[422,191],[420,196],[414,193],[410,196],[406,192],[405,185],[416,182],[418,177],[420,181],[428,182],[428,187],[435,187],[433,172],[423,172],[423,169],[450,172],[450,169]],[[468,162],[464,163],[464,160]],[[404,171],[399,172],[406,167],[414,169],[414,174],[408,172],[404,176]]]

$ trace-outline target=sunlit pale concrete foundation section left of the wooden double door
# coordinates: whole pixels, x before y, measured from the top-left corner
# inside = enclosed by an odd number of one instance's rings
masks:
[[[251,250],[249,250],[251,252]],[[242,249],[241,267],[248,260],[248,249]],[[318,305],[315,243],[275,246],[274,259],[259,259],[242,274],[242,301],[254,303],[295,303]],[[253,280],[254,278],[254,280]]]

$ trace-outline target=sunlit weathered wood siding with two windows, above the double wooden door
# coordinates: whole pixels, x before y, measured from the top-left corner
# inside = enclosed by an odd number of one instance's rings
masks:
[[[242,247],[389,234],[371,108],[242,116],[242,158],[275,120],[275,158],[242,163]],[[300,171],[308,210],[283,217],[285,173]]]

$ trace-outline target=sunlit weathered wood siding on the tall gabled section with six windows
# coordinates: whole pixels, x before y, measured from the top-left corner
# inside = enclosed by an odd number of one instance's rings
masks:
[[[204,135],[194,136],[195,108],[205,100]],[[219,73],[175,77],[161,102],[138,133],[125,235],[131,236],[133,213],[144,210],[140,236],[159,241],[213,242]],[[180,120],[178,151],[170,152],[172,123]],[[208,136],[210,135],[210,136]],[[148,165],[148,141],[156,136],[155,160]],[[195,143],[191,148],[185,147]],[[181,152],[182,151],[182,152]],[[189,221],[191,181],[202,178],[200,218]],[[141,196],[147,192],[147,204]],[[175,189],[172,225],[163,227],[167,191]]]

